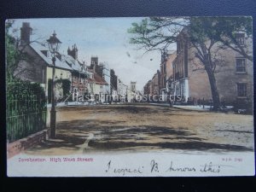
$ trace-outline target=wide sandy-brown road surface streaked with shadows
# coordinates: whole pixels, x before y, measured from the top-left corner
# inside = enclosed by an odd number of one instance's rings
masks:
[[[253,151],[253,115],[152,105],[61,107],[56,134],[26,153]]]

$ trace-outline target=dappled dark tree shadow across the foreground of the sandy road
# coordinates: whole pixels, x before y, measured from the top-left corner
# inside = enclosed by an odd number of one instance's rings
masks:
[[[132,150],[132,149],[193,149],[193,150],[232,150],[251,151],[238,145],[207,143],[205,138],[183,127],[162,126],[122,126],[124,121],[112,120],[72,120],[57,125],[57,138],[42,143],[34,149],[60,148],[77,151],[89,134],[93,138],[88,143],[89,150]],[[119,125],[118,125],[119,124]]]

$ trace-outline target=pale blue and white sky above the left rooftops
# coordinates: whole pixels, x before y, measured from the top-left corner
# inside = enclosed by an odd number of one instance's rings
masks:
[[[131,34],[127,29],[131,23],[143,20],[142,17],[128,18],[67,18],[67,19],[20,19],[13,25],[16,36],[20,36],[22,22],[30,22],[31,40],[44,42],[55,31],[61,40],[60,52],[67,55],[68,46],[79,49],[79,61],[90,65],[90,57],[98,56],[99,62],[107,62],[125,84],[137,82],[137,90],[152,79],[160,69],[160,52],[137,49],[129,44]]]

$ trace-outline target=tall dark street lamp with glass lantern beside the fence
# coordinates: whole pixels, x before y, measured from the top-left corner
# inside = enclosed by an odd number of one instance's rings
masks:
[[[52,36],[47,40],[49,46],[49,52],[52,54],[52,79],[51,79],[51,109],[50,109],[50,132],[49,137],[55,138],[56,136],[56,110],[55,110],[55,54],[59,50],[61,41],[56,38],[54,32]]]

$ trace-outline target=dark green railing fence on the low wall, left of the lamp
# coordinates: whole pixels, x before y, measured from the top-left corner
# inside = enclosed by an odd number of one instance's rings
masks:
[[[46,127],[47,108],[37,99],[7,101],[7,139],[9,143]]]

